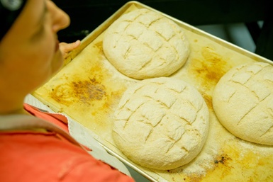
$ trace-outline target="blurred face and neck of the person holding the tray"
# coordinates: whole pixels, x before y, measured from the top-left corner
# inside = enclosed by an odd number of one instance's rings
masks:
[[[69,16],[49,0],[28,0],[0,42],[0,84],[27,94],[62,66],[57,31]]]

